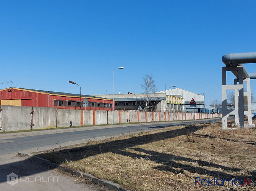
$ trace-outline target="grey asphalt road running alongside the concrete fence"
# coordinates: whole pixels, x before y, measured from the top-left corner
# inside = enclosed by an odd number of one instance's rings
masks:
[[[202,119],[196,120],[195,123],[212,123],[221,120],[222,118],[214,118],[214,119]],[[73,131],[73,129],[66,129],[65,132],[55,132],[44,134],[43,131],[38,131],[37,135],[28,135],[26,136],[18,136],[12,137],[11,134],[5,134],[6,138],[0,138],[0,154],[9,154],[16,153],[19,151],[30,150],[32,148],[46,148],[47,146],[55,146],[61,145],[65,142],[73,142],[71,144],[76,144],[74,141],[78,140],[86,140],[90,138],[102,137],[102,136],[111,136],[111,135],[119,135],[126,134],[132,132],[139,131],[147,131],[156,128],[163,128],[167,126],[177,126],[181,124],[191,124],[193,121],[172,121],[165,123],[151,123],[151,124],[127,124],[122,125],[121,127],[112,126],[97,126],[95,129],[87,130],[80,128],[80,131]],[[42,134],[40,134],[42,133]],[[36,151],[36,150],[34,150]]]

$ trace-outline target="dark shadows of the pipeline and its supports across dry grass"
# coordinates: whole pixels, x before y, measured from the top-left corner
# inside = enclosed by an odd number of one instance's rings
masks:
[[[97,154],[108,153],[111,151],[112,153],[121,154],[123,156],[128,156],[134,159],[143,158],[143,159],[157,162],[161,165],[164,164],[163,166],[154,167],[154,169],[157,169],[157,170],[170,171],[177,174],[184,173],[184,170],[186,170],[191,173],[198,173],[198,174],[209,175],[209,176],[211,175],[213,177],[218,177],[218,178],[239,178],[238,176],[233,176],[223,171],[225,170],[228,172],[231,171],[232,173],[235,173],[235,172],[241,171],[242,168],[240,169],[240,168],[227,167],[227,166],[215,164],[209,161],[195,160],[195,159],[186,158],[183,156],[159,153],[156,151],[149,151],[141,148],[132,148],[134,146],[144,145],[146,143],[152,143],[159,140],[165,140],[168,138],[178,137],[181,135],[187,135],[187,134],[196,132],[199,129],[202,129],[203,127],[205,126],[190,125],[181,129],[159,132],[159,133],[150,134],[150,135],[141,135],[139,137],[131,137],[124,140],[114,140],[111,142],[100,143],[96,145],[87,145],[87,146],[78,147],[78,148],[64,149],[64,150],[58,151],[59,153],[57,156],[56,154],[54,154],[54,152],[43,153],[43,154],[39,154],[38,156],[42,158],[48,158],[54,162],[62,163],[64,161],[78,161],[83,158],[95,156]],[[126,151],[126,148],[130,148],[134,151],[139,152],[140,154]],[[191,165],[183,164],[183,162],[190,162],[190,163],[197,162],[199,164],[198,165],[199,167],[196,167],[192,164]],[[214,167],[215,169],[220,169],[220,170],[207,170],[204,167]],[[179,170],[175,168],[178,168]],[[250,174],[256,175],[255,172],[250,172]]]

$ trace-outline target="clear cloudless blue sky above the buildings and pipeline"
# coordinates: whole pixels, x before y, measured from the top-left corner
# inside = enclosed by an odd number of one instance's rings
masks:
[[[71,80],[112,94],[123,66],[115,94],[141,93],[152,73],[159,91],[176,85],[207,103],[221,99],[221,57],[256,51],[255,0],[3,0],[0,24],[0,83],[30,89],[79,93]]]

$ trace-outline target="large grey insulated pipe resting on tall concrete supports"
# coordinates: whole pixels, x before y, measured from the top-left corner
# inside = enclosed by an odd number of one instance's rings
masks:
[[[225,54],[222,56],[222,62],[226,66],[243,66],[243,77],[256,79],[256,73],[248,73],[243,64],[246,63],[254,63],[256,62],[256,52],[251,53],[233,53],[233,54]],[[238,78],[238,72],[232,71],[233,74]]]

